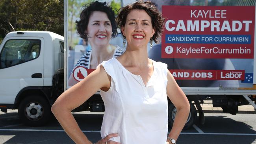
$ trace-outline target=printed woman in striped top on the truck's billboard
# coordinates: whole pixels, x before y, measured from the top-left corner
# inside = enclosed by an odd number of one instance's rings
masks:
[[[77,67],[96,69],[102,61],[117,57],[124,52],[119,46],[109,44],[110,39],[117,36],[117,25],[115,13],[106,2],[96,1],[86,4],[80,13],[80,20],[76,21],[76,26],[80,37],[86,42],[89,41],[91,50],[82,55],[74,66],[69,78],[69,86],[78,83],[73,77]]]

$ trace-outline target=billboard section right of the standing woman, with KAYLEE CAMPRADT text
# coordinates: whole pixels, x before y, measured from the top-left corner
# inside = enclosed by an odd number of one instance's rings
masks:
[[[252,87],[255,7],[162,6],[162,13],[161,59],[173,60],[182,87]]]

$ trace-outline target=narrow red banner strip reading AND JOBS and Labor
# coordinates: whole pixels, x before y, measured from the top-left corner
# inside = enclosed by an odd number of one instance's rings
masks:
[[[245,70],[169,70],[176,80],[244,80]]]

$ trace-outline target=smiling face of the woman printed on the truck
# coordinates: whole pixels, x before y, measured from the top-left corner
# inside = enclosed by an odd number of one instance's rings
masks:
[[[94,11],[89,18],[87,33],[92,48],[108,46],[112,33],[108,15],[101,11]]]

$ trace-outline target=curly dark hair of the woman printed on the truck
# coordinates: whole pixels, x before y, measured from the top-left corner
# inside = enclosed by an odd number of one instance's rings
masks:
[[[108,19],[111,22],[112,35],[111,38],[117,36],[117,23],[115,21],[115,12],[109,7],[106,2],[92,2],[91,4],[85,4],[82,7],[82,12],[80,13],[80,20],[76,20],[76,29],[77,33],[80,34],[80,37],[85,41],[88,41],[87,36],[87,26],[89,18],[94,11],[101,11],[108,15]]]

